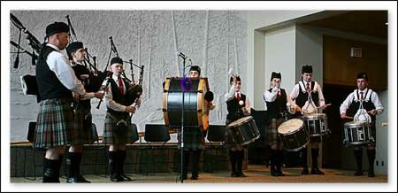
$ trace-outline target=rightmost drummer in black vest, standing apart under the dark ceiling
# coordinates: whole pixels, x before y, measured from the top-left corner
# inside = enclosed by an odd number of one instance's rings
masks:
[[[346,100],[340,106],[341,119],[347,119],[347,116],[355,116],[361,112],[362,107],[366,111],[365,116],[371,118],[371,133],[376,140],[376,115],[383,112],[383,105],[380,102],[378,94],[369,89],[368,74],[358,73],[356,75],[356,87],[354,92],[350,93]],[[356,119],[354,120],[356,121]],[[369,160],[369,172],[368,177],[374,177],[374,158],[376,155],[376,141],[375,143],[369,143],[367,147],[367,155]],[[354,156],[356,157],[356,173],[354,175],[363,175],[362,171],[362,146],[355,146]]]

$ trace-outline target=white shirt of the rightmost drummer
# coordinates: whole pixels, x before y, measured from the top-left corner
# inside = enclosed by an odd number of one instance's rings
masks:
[[[348,106],[351,105],[352,102],[354,101],[354,97],[356,95],[356,90],[354,90],[354,92],[350,93],[348,95],[348,97],[346,98],[346,100],[344,100],[344,102],[340,105],[340,114],[347,112]],[[367,91],[368,91],[367,88],[364,90],[359,90],[359,92],[358,92],[359,97],[361,97],[361,92],[364,92],[364,94],[365,94]],[[364,96],[364,97],[366,97],[366,96]],[[384,108],[380,102],[379,96],[375,91],[371,92],[371,102],[376,107],[377,114],[381,114],[384,111]]]

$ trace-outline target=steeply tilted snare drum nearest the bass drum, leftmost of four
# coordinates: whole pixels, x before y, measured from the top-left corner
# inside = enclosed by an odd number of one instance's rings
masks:
[[[233,143],[247,145],[260,137],[260,131],[256,127],[256,121],[252,116],[235,120],[226,126],[228,135]]]

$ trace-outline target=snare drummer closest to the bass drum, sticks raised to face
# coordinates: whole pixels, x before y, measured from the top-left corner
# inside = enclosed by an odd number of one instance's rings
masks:
[[[250,115],[250,101],[249,97],[241,94],[241,77],[233,75],[229,81],[231,88],[226,93],[226,108],[228,114],[226,115],[226,125],[239,120],[244,116]],[[226,130],[226,148],[229,149],[229,161],[231,162],[231,177],[246,177],[241,171],[241,166],[244,158],[245,146],[233,143],[232,136]]]

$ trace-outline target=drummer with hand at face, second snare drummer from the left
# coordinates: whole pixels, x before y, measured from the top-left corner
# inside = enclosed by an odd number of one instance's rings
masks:
[[[283,143],[278,137],[278,127],[283,121],[287,120],[287,112],[294,114],[295,110],[299,111],[295,102],[287,95],[285,89],[280,88],[282,77],[280,73],[272,72],[271,88],[265,90],[264,101],[267,104],[267,112],[271,116],[271,125],[267,129],[267,141],[271,147],[271,175],[284,176],[280,166],[283,160],[282,148]]]

